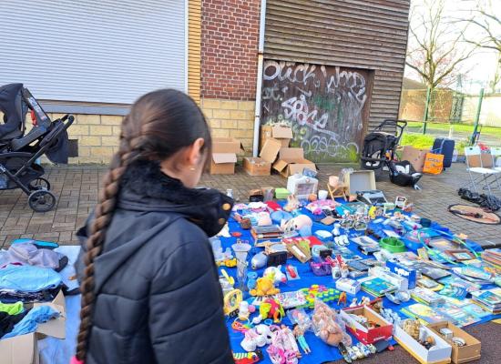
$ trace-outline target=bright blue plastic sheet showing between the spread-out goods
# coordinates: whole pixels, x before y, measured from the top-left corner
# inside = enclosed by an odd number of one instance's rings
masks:
[[[305,208],[302,208],[302,213],[305,215],[309,215],[310,217],[313,218],[313,215]],[[230,219],[229,225],[230,225],[230,232],[239,231],[242,234],[240,239],[241,240],[248,240],[249,243],[251,244],[251,246],[253,246],[253,238],[251,237],[251,232],[249,230],[242,230],[240,228],[239,224],[236,221],[234,221],[233,219]],[[383,232],[382,232],[383,228],[384,229],[391,229],[391,227],[384,227],[382,224],[379,224],[379,225],[373,224],[373,222],[370,224],[369,227],[371,227],[375,232],[379,233],[379,235],[381,235],[381,236],[384,236]],[[442,227],[436,223],[432,224],[432,228],[435,230],[444,231],[445,233],[450,233],[450,231],[446,227]],[[316,230],[329,230],[330,231],[331,229],[332,229],[332,227],[326,227],[325,225],[322,225],[321,223],[313,222],[312,232],[314,232]],[[362,233],[356,232],[352,229],[348,235],[349,235],[349,238],[355,238],[357,236],[362,235]],[[234,244],[236,242],[237,238],[220,238],[220,240],[221,240],[221,245],[222,245],[223,249],[226,249],[226,248],[230,247],[232,244]],[[482,250],[482,248],[479,245],[475,244],[475,242],[473,242],[473,241],[468,240],[467,244],[470,248],[474,249],[475,251]],[[358,246],[356,244],[354,244],[352,241],[350,241],[350,245],[348,246],[348,248],[350,248],[355,254],[359,255],[362,258],[373,258],[373,256],[363,255],[363,253],[358,249]],[[249,256],[248,256],[248,261],[250,262],[251,258],[256,253],[260,252],[261,250],[262,250],[262,248],[252,248],[250,253],[249,253]],[[289,280],[289,281],[287,281],[286,284],[280,284],[277,287],[281,289],[281,292],[295,291],[295,290],[298,290],[300,288],[309,288],[315,284],[316,285],[323,285],[327,288],[335,288],[335,281],[332,279],[331,276],[326,276],[326,277],[315,276],[312,273],[312,270],[311,270],[309,264],[307,264],[307,263],[302,264],[296,258],[288,259],[287,264],[291,264],[292,266],[297,268],[301,279]],[[237,281],[237,279],[236,279],[237,268],[225,268],[225,267],[222,267],[222,268],[225,269],[230,274],[230,276],[235,277],[235,282]],[[259,274],[259,277],[262,276],[263,270],[264,269],[256,270],[256,272],[258,272],[258,274]],[[251,271],[251,268],[249,268],[249,271]],[[284,272],[284,268],[282,268],[282,271]],[[236,283],[236,285],[237,285],[237,283]],[[485,287],[485,288],[487,288],[487,287]],[[356,297],[358,298],[359,301],[363,296],[369,297],[371,299],[374,298],[372,295],[370,295],[367,292],[364,292],[362,290],[359,291],[356,295]],[[354,297],[355,296],[353,296],[353,295],[347,295],[347,300],[346,300],[347,305],[350,305],[350,302],[352,301],[352,299]],[[254,298],[252,298],[250,296],[248,291],[244,292],[243,298],[247,299],[250,303],[254,300]],[[395,312],[398,312],[401,308],[410,306],[414,303],[416,303],[416,302],[413,299],[411,299],[408,302],[405,302],[401,305],[395,305],[393,302],[391,302],[387,298],[383,298],[383,307],[384,308],[392,308]],[[338,306],[337,301],[331,302],[329,304],[329,306],[331,306],[332,308],[336,308],[336,309],[345,307],[343,305],[341,307]],[[311,315],[312,309],[307,309],[307,312]],[[398,313],[400,314],[400,316],[402,318],[405,318],[405,316],[402,313],[400,313],[400,312],[398,312]],[[251,315],[251,318],[255,317],[256,315],[257,314]],[[497,316],[490,315],[490,316],[487,316],[482,321],[477,322],[477,324],[481,323],[481,322],[489,321],[491,319],[500,318],[500,317],[501,317],[501,315],[497,315]],[[228,325],[228,329],[230,332],[231,348],[233,349],[233,352],[245,352],[245,350],[242,349],[240,346],[240,342],[243,339],[244,335],[241,332],[238,332],[238,331],[231,329],[231,324],[233,321],[234,321],[234,319],[232,319],[232,318],[227,319],[227,325]],[[291,327],[291,321],[288,318],[283,319],[282,323]],[[353,337],[353,335],[352,335],[352,338],[353,338],[353,343],[358,342],[358,340],[355,339]],[[319,364],[319,363],[322,363],[323,361],[343,359],[342,355],[340,354],[340,352],[337,348],[330,347],[330,346],[324,344],[322,342],[322,340],[315,337],[315,335],[312,332],[307,332],[305,334],[305,339],[308,342],[310,349],[312,349],[312,353],[309,355],[302,355],[302,359],[300,359],[300,363]],[[391,340],[391,343],[395,344],[396,342],[394,340]],[[262,363],[271,363],[271,360],[268,356],[268,353],[266,352],[266,348],[267,347],[261,348],[261,350],[263,352],[263,356],[264,356],[264,359],[261,362]]]

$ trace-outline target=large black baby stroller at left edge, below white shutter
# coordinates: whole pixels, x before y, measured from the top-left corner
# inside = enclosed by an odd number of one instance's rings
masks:
[[[0,190],[21,188],[36,212],[56,205],[49,191],[44,168],[36,163],[44,154],[53,163],[67,163],[67,128],[74,117],[66,115],[51,121],[23,84],[0,86]],[[26,113],[31,112],[33,128],[26,134]],[[25,135],[26,134],[26,135]]]

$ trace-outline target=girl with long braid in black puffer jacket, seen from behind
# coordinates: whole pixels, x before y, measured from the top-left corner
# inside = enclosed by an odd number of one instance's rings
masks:
[[[196,188],[210,128],[189,96],[142,96],[95,212],[78,231],[82,303],[72,363],[233,363],[208,237],[233,201]]]

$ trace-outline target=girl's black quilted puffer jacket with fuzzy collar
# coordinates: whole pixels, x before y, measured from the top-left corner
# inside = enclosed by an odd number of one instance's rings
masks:
[[[223,227],[231,205],[216,190],[184,187],[157,163],[128,167],[95,260],[86,364],[233,363],[207,238]],[[87,230],[78,232],[83,241]],[[81,278],[82,255],[76,266]]]

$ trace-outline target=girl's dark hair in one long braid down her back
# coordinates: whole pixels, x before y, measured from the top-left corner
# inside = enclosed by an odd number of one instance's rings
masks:
[[[80,285],[82,307],[77,337],[77,359],[85,360],[87,355],[96,298],[94,259],[103,249],[106,230],[117,202],[120,177],[134,160],[165,160],[182,148],[192,145],[199,137],[205,141],[203,149],[207,156],[211,147],[207,121],[199,106],[189,96],[176,90],[163,89],[141,96],[124,118],[118,152],[104,177],[104,186],[87,239],[87,253],[84,257],[86,268]]]

